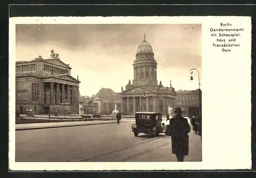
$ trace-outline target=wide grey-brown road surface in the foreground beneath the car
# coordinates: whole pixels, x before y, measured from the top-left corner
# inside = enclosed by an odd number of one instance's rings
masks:
[[[122,120],[124,121],[124,120]],[[170,137],[140,133],[134,137],[133,120],[120,124],[85,125],[16,131],[16,162],[171,162]],[[202,160],[201,139],[189,133],[189,155]]]

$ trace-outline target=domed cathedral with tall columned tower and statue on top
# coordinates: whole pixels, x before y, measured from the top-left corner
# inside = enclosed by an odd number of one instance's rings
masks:
[[[158,112],[166,115],[169,107],[175,108],[176,92],[170,81],[163,86],[157,81],[157,61],[153,48],[144,40],[139,44],[133,63],[134,78],[122,88],[121,111],[123,114],[134,115],[135,112]],[[167,77],[167,76],[166,76]]]

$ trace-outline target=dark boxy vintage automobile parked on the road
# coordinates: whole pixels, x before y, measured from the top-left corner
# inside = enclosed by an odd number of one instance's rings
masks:
[[[137,137],[139,133],[154,134],[164,133],[167,125],[162,123],[162,114],[154,112],[136,112],[135,124],[132,124],[132,131]]]

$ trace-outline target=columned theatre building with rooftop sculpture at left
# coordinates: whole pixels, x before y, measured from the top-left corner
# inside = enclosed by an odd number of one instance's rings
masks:
[[[78,114],[79,83],[71,67],[52,51],[50,59],[41,56],[16,62],[16,112]]]

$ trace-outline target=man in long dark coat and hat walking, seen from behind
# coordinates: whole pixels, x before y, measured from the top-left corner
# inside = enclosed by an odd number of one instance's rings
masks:
[[[172,136],[172,153],[176,154],[178,162],[184,161],[184,156],[188,155],[188,135],[190,126],[187,119],[181,116],[181,108],[175,108],[175,117],[170,119],[169,136]]]

